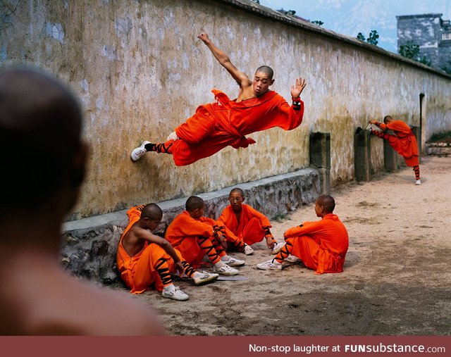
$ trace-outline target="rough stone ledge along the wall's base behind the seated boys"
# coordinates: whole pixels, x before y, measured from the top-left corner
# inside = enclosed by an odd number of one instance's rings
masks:
[[[321,194],[318,170],[305,168],[199,194],[206,203],[205,215],[218,218],[228,205],[228,194],[233,187],[240,187],[245,192],[246,203],[270,219],[295,211],[299,206],[313,202]],[[164,213],[159,231],[164,232],[175,215],[185,209],[185,201],[186,198],[158,203]],[[136,204],[142,203],[147,202]],[[61,262],[66,270],[73,275],[104,284],[118,281],[116,248],[128,224],[126,212],[127,210],[116,211],[65,223]]]

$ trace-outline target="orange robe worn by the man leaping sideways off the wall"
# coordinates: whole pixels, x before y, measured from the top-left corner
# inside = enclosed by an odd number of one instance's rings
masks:
[[[230,101],[228,96],[213,89],[216,103],[199,106],[196,113],[175,128],[181,140],[175,140],[171,154],[175,165],[190,165],[195,161],[216,154],[226,146],[235,149],[254,144],[245,137],[252,132],[280,127],[292,130],[302,123],[304,103],[295,110],[293,106],[273,91],[246,101]]]

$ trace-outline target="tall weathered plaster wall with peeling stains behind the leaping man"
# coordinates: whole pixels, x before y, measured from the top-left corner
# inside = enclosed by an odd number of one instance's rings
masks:
[[[419,125],[420,94],[425,132],[451,129],[450,77],[248,0],[7,0],[0,6],[0,65],[54,73],[85,108],[89,175],[70,219],[307,167],[310,132],[330,132],[330,180],[347,182],[354,178],[356,128],[387,114]],[[213,101],[211,88],[236,96],[235,82],[197,39],[202,31],[249,75],[271,65],[272,88],[287,99],[295,78],[307,78],[304,123],[291,132],[253,134],[257,144],[248,149],[228,148],[187,167],[156,154],[132,163],[132,148],[166,139],[199,104]],[[373,139],[371,163],[381,170],[382,141]]]

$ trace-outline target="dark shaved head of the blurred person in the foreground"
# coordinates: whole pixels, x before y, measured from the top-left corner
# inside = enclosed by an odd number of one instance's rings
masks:
[[[0,71],[0,208],[37,207],[70,177],[81,147],[80,106],[65,85],[35,70]],[[66,177],[66,179],[63,179]]]

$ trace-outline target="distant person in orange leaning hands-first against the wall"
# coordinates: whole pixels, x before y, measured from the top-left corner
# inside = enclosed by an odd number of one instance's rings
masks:
[[[406,165],[413,168],[416,180],[415,184],[421,184],[418,144],[416,144],[415,135],[409,125],[402,120],[393,120],[390,115],[386,115],[383,118],[383,123],[379,123],[376,120],[370,120],[369,123],[376,125],[382,130],[370,129],[371,134],[388,140],[388,144],[404,158]],[[387,130],[393,130],[395,135],[388,134]]]

